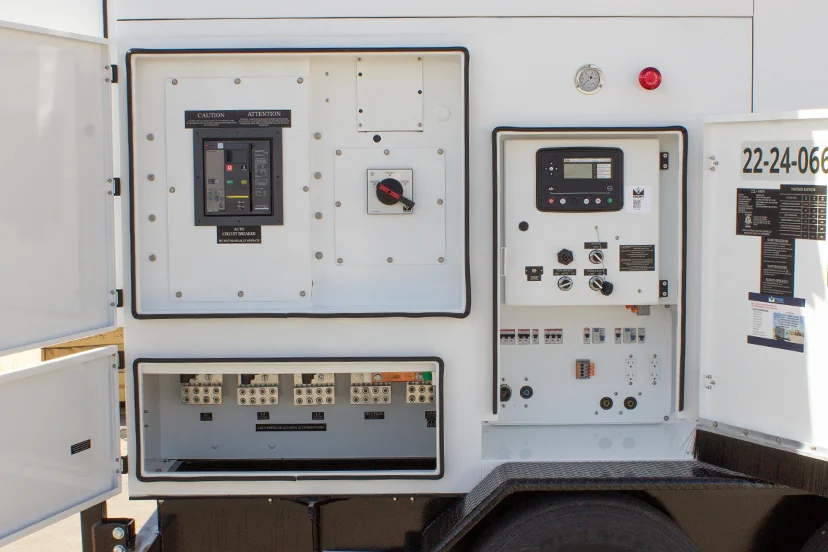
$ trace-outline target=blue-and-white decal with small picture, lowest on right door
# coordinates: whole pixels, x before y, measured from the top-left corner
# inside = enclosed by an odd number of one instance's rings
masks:
[[[778,297],[762,293],[748,294],[751,345],[805,352],[805,299]]]

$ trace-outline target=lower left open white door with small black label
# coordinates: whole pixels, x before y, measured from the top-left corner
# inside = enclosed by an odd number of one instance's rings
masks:
[[[0,547],[121,492],[117,353],[0,374]]]

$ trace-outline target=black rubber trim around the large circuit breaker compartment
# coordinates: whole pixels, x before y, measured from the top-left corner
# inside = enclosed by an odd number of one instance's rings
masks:
[[[138,312],[137,277],[135,273],[135,163],[134,163],[134,125],[132,100],[132,56],[164,54],[339,54],[339,53],[388,53],[388,52],[456,52],[463,54],[463,134],[464,134],[464,237],[465,244],[465,284],[466,305],[463,312],[388,312],[388,313],[165,313],[141,314]],[[388,48],[206,48],[206,49],[142,49],[127,51],[126,63],[126,102],[127,102],[127,152],[129,163],[129,249],[130,249],[130,304],[132,317],[136,320],[153,319],[187,319],[187,318],[466,318],[471,313],[471,252],[469,251],[469,50],[463,46],[451,47],[388,47]]]

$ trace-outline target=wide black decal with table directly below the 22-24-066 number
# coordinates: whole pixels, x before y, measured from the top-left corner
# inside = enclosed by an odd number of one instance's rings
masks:
[[[736,190],[736,233],[740,236],[825,241],[828,186],[782,184],[778,190]]]

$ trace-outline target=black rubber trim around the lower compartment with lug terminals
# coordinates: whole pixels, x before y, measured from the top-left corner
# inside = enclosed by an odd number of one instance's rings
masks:
[[[204,476],[204,477],[169,477],[169,476],[146,476],[143,475],[143,458],[141,456],[141,429],[143,428],[143,422],[141,421],[141,412],[140,412],[140,393],[139,393],[139,374],[138,374],[138,365],[141,363],[146,364],[189,364],[189,363],[202,363],[202,364],[213,364],[213,363],[245,363],[245,362],[252,362],[252,363],[263,363],[263,362],[270,362],[270,363],[279,363],[279,364],[290,364],[290,363],[302,363],[302,362],[339,362],[339,363],[365,363],[365,362],[435,362],[437,363],[437,372],[439,374],[439,385],[437,386],[437,406],[439,408],[438,412],[440,413],[438,417],[438,426],[437,429],[439,431],[439,439],[438,444],[440,447],[438,459],[440,462],[440,470],[436,474],[428,474],[428,475],[298,475],[298,476],[267,476],[267,477],[213,477],[213,476]],[[444,409],[443,409],[443,388],[444,388],[444,374],[445,374],[445,363],[443,359],[436,356],[422,356],[422,357],[267,357],[267,358],[149,358],[149,357],[142,357],[136,358],[132,362],[132,382],[133,382],[133,414],[135,415],[133,427],[135,428],[135,453],[136,453],[136,463],[135,463],[135,477],[138,481],[142,483],[152,483],[158,481],[174,481],[176,483],[188,483],[193,481],[316,481],[316,480],[323,480],[323,481],[351,481],[351,480],[358,480],[358,481],[368,481],[368,480],[409,480],[409,479],[428,479],[428,480],[437,480],[442,479],[446,472],[446,460],[445,460],[445,423],[444,423]]]

